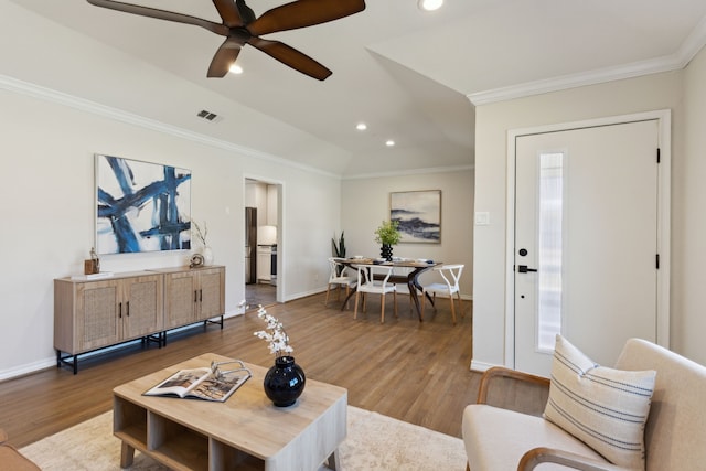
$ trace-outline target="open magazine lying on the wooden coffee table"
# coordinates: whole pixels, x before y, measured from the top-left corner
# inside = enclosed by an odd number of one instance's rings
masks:
[[[222,371],[221,365],[234,363],[234,370]],[[243,362],[212,363],[211,367],[180,370],[145,396],[181,397],[184,399],[215,400],[224,403],[253,373]]]

